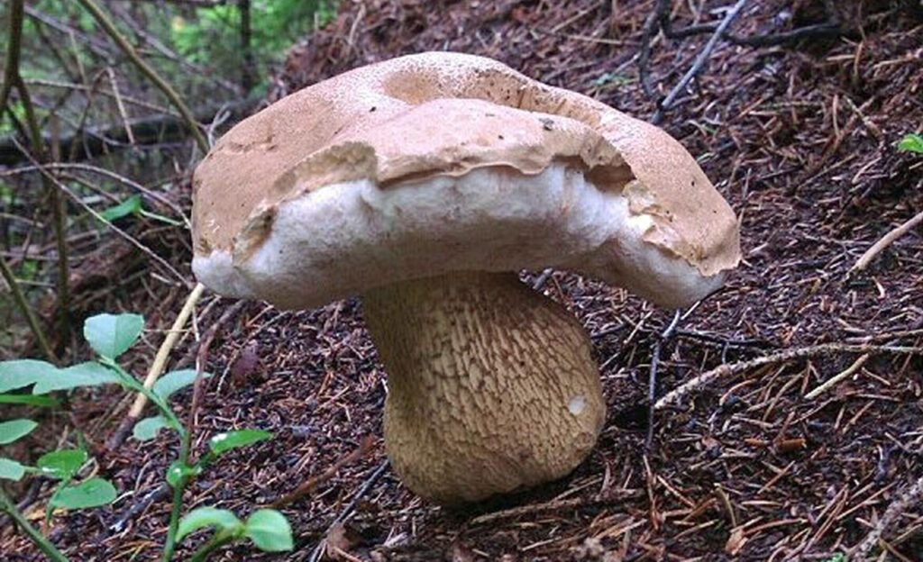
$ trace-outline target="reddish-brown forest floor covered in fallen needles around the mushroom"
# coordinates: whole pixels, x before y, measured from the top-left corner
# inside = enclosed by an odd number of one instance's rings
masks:
[[[653,4],[346,1],[338,18],[294,48],[275,96],[394,55],[452,50],[495,57],[651,118],[656,105],[641,88],[636,57]],[[697,3],[674,4],[681,4],[670,15],[674,29],[723,15],[697,16],[689,7]],[[819,4],[750,2],[732,29],[754,36],[821,24],[829,15]],[[745,258],[725,289],[684,315],[662,342],[658,395],[716,365],[779,349],[923,344],[919,229],[869,269],[847,274],[869,245],[923,209],[923,160],[895,149],[923,124],[923,19],[897,3],[842,4],[849,7],[839,21],[855,36],[761,46],[719,41],[693,93],[665,112],[661,126],[698,156],[737,211]],[[846,13],[854,5],[856,12]],[[647,66],[658,97],[709,36],[653,41]],[[186,248],[177,243],[176,261],[188,262]],[[166,328],[185,290],[135,287],[97,291],[88,309],[137,310],[149,327]],[[208,501],[246,510],[361,454],[283,509],[293,522],[294,553],[256,555],[240,546],[215,559],[312,560],[326,539],[328,555],[342,560],[835,560],[923,477],[919,357],[874,356],[813,399],[805,397],[810,389],[859,356],[829,353],[719,378],[653,415],[646,449],[652,349],[672,315],[566,272],[556,271],[543,290],[593,335],[609,406],[603,434],[562,481],[466,511],[421,501],[383,464],[385,374],[358,301],[300,313],[258,303],[232,310],[208,355],[215,377],[198,412],[196,446],[238,426],[270,429],[275,438],[202,474],[186,506]],[[207,297],[198,329],[232,306]],[[138,370],[157,340],[150,334],[150,344],[135,352]],[[195,353],[186,337],[174,363],[188,365]],[[58,430],[76,424],[101,446],[124,415],[117,404],[124,407],[114,391],[81,392],[72,414],[53,421]],[[60,431],[35,439],[42,436]],[[123,495],[110,508],[55,518],[54,543],[74,560],[148,560],[159,552],[169,502],[144,498],[162,482],[176,443],[164,435],[153,443],[129,439],[98,452],[99,471]],[[137,513],[114,527],[133,507]],[[6,531],[0,553],[10,562],[40,558]],[[923,508],[907,508],[876,553],[923,560]]]

